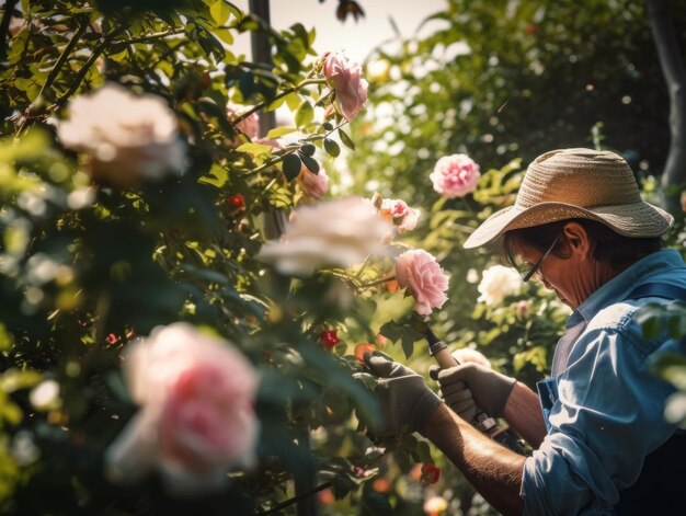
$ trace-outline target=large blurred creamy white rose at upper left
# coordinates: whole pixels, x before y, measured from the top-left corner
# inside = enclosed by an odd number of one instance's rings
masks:
[[[174,113],[162,99],[137,96],[118,84],[75,98],[57,136],[65,147],[90,156],[96,181],[116,186],[183,170]]]

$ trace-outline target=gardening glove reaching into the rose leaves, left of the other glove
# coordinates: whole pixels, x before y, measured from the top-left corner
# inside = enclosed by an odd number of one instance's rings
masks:
[[[365,363],[379,377],[375,392],[386,411],[386,429],[392,434],[405,426],[412,432],[424,429],[428,417],[443,403],[424,378],[380,352],[365,353]]]

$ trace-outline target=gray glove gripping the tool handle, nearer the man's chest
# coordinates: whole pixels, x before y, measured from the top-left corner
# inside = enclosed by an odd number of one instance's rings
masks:
[[[449,369],[432,366],[430,376],[438,380],[448,406],[467,421],[473,421],[477,406],[490,416],[502,417],[510,392],[517,381],[473,362]]]

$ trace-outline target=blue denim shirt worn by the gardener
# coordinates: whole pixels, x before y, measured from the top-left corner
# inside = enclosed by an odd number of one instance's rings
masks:
[[[625,299],[648,282],[686,288],[681,255],[650,254],[570,316],[568,328],[583,320],[587,325],[565,368],[553,377],[558,399],[548,414],[548,435],[524,463],[525,515],[611,514],[619,492],[638,479],[644,457],[675,432],[663,417],[674,389],[649,367],[651,355],[678,351],[679,344],[666,332],[647,342],[633,320],[640,306],[665,300]]]

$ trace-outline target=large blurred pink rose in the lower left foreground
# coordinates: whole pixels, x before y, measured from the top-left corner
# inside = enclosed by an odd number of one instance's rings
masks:
[[[194,493],[254,460],[259,378],[228,342],[187,323],[158,328],[129,344],[124,372],[140,411],[107,450],[113,481],[157,467],[170,490]]]

